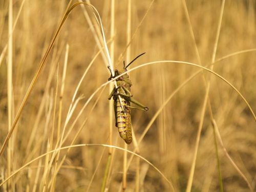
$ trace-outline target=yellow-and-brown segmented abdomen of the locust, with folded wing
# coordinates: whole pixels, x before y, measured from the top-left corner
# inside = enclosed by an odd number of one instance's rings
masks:
[[[119,98],[116,99],[116,126],[121,138],[125,143],[130,144],[133,140],[132,136],[132,124],[131,124],[131,111],[126,106],[130,103],[121,97],[120,104]],[[123,107],[123,109],[122,109]]]

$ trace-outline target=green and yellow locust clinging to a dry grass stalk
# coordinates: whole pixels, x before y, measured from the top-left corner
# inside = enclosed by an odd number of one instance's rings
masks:
[[[115,75],[112,76],[111,74],[109,80],[126,72],[127,67],[129,67],[133,61],[135,61],[138,57],[140,57],[143,54],[145,53],[138,55],[126,67],[125,67],[125,61],[123,61],[123,69],[120,71],[115,70]],[[110,66],[108,66],[108,68],[110,70]],[[111,70],[110,70],[110,73],[111,73]],[[133,98],[133,95],[131,94],[132,81],[130,80],[130,77],[127,73],[117,78],[116,83],[117,83],[117,88],[114,87],[114,89],[112,90],[109,96],[109,100],[112,97],[114,99],[116,127],[118,128],[120,137],[125,141],[125,143],[130,144],[133,141],[131,109],[147,111],[148,108]],[[135,106],[131,106],[131,102],[139,106],[139,108]]]

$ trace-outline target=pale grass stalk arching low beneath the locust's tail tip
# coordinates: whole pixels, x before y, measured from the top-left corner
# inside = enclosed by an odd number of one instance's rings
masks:
[[[13,176],[15,176],[17,173],[19,173],[21,170],[23,170],[25,167],[27,167],[28,165],[30,165],[31,163],[35,162],[36,160],[38,159],[41,159],[42,157],[45,157],[49,154],[52,154],[52,153],[57,153],[58,151],[60,150],[67,150],[69,148],[74,148],[74,147],[82,147],[82,146],[103,146],[103,147],[111,147],[111,148],[116,148],[118,150],[122,150],[122,151],[126,151],[127,153],[130,153],[130,154],[133,154],[137,157],[139,157],[140,159],[142,159],[143,161],[145,161],[146,163],[150,164],[155,170],[157,170],[157,172],[166,180],[166,182],[168,182],[168,184],[170,185],[170,187],[172,188],[173,191],[174,190],[174,187],[173,187],[173,184],[163,175],[163,173],[155,166],[153,165],[150,161],[148,161],[147,159],[145,159],[144,157],[134,153],[134,152],[131,152],[129,150],[125,150],[124,148],[121,148],[121,147],[118,147],[118,146],[114,146],[114,145],[107,145],[107,144],[78,144],[78,145],[70,145],[70,146],[65,146],[65,147],[61,147],[61,148],[56,148],[55,150],[52,150],[50,152],[47,152],[45,154],[42,154],[40,156],[38,156],[37,158],[29,161],[28,163],[26,163],[25,165],[23,165],[22,167],[18,168],[14,173],[12,173],[8,178],[6,178],[2,183],[0,183],[0,187],[5,184],[9,179],[11,179]]]

